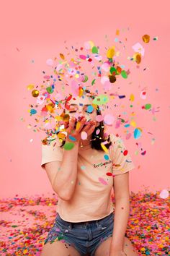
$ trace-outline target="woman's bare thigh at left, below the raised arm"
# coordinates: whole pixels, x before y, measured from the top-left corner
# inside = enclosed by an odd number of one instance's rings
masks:
[[[42,248],[42,252],[40,256],[81,256],[79,252],[67,244],[66,242],[55,241],[50,244],[48,242]]]

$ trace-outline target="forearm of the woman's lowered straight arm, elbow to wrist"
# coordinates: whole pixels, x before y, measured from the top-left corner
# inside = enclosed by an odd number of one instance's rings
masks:
[[[111,250],[123,249],[125,232],[128,225],[129,212],[129,197],[122,197],[120,199],[115,200],[115,218],[112,242],[110,246]]]

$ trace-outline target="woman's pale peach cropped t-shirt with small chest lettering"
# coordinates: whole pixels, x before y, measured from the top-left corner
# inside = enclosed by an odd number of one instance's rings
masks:
[[[56,136],[55,136],[56,137]],[[120,137],[110,135],[112,145],[108,153],[92,149],[90,146],[79,148],[76,187],[71,200],[58,197],[56,211],[64,221],[81,222],[99,220],[115,210],[112,205],[113,176],[124,174],[135,168],[129,153]],[[63,148],[56,137],[50,145],[42,145],[41,166],[51,161],[62,161]],[[115,164],[114,164],[115,163]],[[60,170],[59,170],[60,171]]]

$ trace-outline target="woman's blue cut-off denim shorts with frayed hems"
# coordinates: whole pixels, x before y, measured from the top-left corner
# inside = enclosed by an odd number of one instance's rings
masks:
[[[94,256],[99,244],[112,236],[113,224],[113,212],[97,221],[79,223],[64,221],[57,213],[55,223],[48,232],[44,244],[62,240],[62,242],[74,247],[80,255]]]

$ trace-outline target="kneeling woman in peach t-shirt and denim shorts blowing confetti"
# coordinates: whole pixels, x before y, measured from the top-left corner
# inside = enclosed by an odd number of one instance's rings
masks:
[[[61,143],[56,136],[52,144],[42,145],[41,166],[58,195],[58,214],[42,256],[138,255],[125,234],[130,210],[128,171],[135,166],[122,140],[113,134],[105,137],[103,122],[96,121],[99,106],[93,108],[92,101],[87,95],[71,98],[66,140]],[[65,147],[69,143],[71,150]]]

